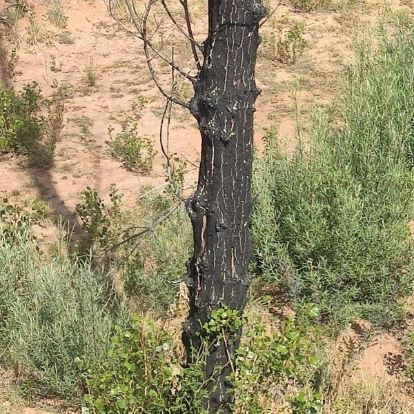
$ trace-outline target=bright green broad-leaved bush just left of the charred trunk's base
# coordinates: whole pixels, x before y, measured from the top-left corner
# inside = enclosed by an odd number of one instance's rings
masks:
[[[172,345],[172,338],[148,319],[134,317],[128,328],[115,326],[106,359],[86,363],[86,406],[96,414],[205,413],[203,364],[181,368]]]

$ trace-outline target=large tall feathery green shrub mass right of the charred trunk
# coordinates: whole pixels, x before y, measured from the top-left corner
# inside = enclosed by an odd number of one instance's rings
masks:
[[[413,282],[414,31],[394,32],[357,50],[339,126],[315,110],[291,154],[268,130],[256,163],[261,277],[334,324],[392,324]]]

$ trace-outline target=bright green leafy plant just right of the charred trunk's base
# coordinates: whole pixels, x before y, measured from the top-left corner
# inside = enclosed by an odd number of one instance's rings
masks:
[[[308,320],[319,311],[311,304],[303,312],[289,317],[272,333],[257,317],[248,322],[232,377],[237,412],[271,413],[271,406],[280,406],[283,400],[295,414],[317,413],[322,407],[322,364],[315,344],[308,339]]]

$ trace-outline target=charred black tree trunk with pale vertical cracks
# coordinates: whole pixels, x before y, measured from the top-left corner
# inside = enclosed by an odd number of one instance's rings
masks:
[[[259,90],[255,62],[260,0],[209,0],[204,63],[190,109],[201,131],[201,162],[195,195],[187,208],[193,224],[194,254],[186,279],[190,313],[184,322],[184,344],[201,346],[201,326],[222,305],[242,313],[250,276],[248,230],[252,204],[253,112]],[[239,332],[210,348],[206,378],[209,413],[229,413],[233,402],[226,377]]]

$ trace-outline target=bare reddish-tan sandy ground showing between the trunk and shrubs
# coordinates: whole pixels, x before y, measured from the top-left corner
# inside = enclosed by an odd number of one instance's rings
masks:
[[[42,1],[32,0],[30,3],[35,7],[41,27],[56,32],[57,29],[51,28],[51,23],[45,17]],[[29,44],[28,21],[22,21],[19,26],[17,66],[21,74],[12,79],[17,88],[37,81],[45,95],[55,90],[56,82],[68,91],[65,126],[57,146],[55,165],[50,170],[36,170],[24,166],[19,158],[4,157],[0,162],[0,192],[22,199],[39,197],[48,202],[55,213],[71,218],[79,195],[86,186],[97,188],[101,196],[106,197],[110,184],[116,183],[121,193],[132,200],[140,186],[164,182],[164,157],[161,155],[158,136],[165,103],[148,75],[139,41],[120,30],[109,16],[103,0],[71,0],[63,3],[68,17],[66,30],[74,42],[62,44],[53,40],[49,45],[41,42]],[[394,2],[392,7],[410,10],[408,3]],[[304,56],[294,66],[266,59],[263,50],[259,53],[257,83],[262,95],[257,100],[255,119],[255,140],[259,147],[264,128],[272,125],[277,128],[279,135],[292,142],[295,129],[293,95],[304,116],[311,106],[326,105],[337,99],[342,89],[340,75],[346,62],[351,59],[353,35],[362,30],[362,22],[375,21],[382,8],[382,3],[371,0],[359,4],[357,8],[339,7],[335,12],[295,13],[286,5],[278,8],[275,21],[284,17],[287,24],[295,21],[305,23],[307,47]],[[197,18],[196,37],[201,40],[206,26],[202,4],[199,10],[194,10],[194,15]],[[263,33],[268,35],[271,30],[270,21],[263,28]],[[85,68],[91,61],[98,79],[95,86],[86,87]],[[166,70],[161,66],[159,69]],[[293,93],[295,84],[296,92]],[[150,176],[133,174],[108,155],[108,126],[119,127],[121,119],[130,114],[131,104],[137,96],[148,99],[139,121],[140,131],[152,137],[158,150]],[[188,160],[190,171],[187,184],[190,186],[197,177],[199,132],[195,121],[184,110],[176,109],[173,115],[170,152],[176,152]],[[82,131],[81,125],[85,123],[90,134]],[[351,330],[348,339],[356,335],[361,342],[361,335],[357,331]],[[337,355],[346,351],[348,339],[344,338],[340,342]],[[393,365],[390,365],[390,360],[398,362],[401,358],[397,339],[384,334],[362,346],[364,349],[353,371],[355,382],[398,384],[401,373],[389,368]],[[407,402],[407,411],[404,413],[414,413],[413,406],[409,404],[411,402]],[[372,411],[377,412],[386,413]],[[44,414],[46,411],[21,408],[21,404],[14,404],[10,397],[1,392],[0,383],[0,413]]]

